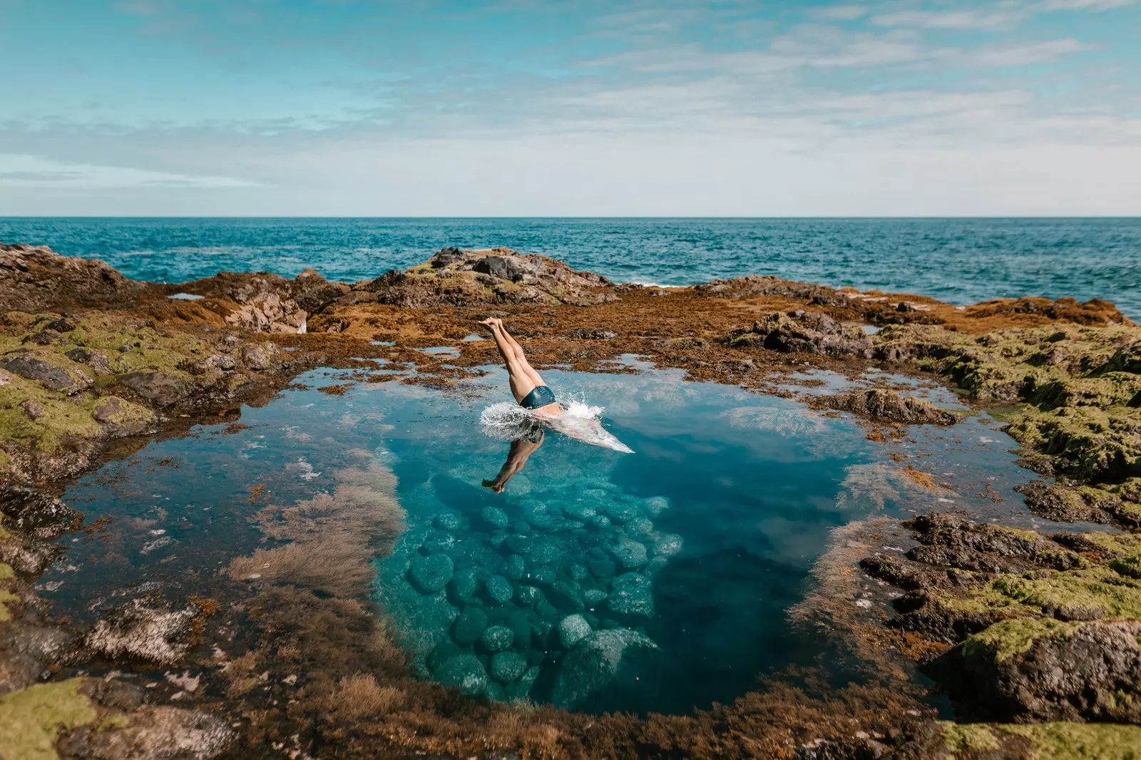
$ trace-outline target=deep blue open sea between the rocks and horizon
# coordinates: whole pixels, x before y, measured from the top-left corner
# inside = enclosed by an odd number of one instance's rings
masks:
[[[1141,318],[1141,218],[100,219],[0,218],[0,241],[102,258],[132,277],[219,269],[375,277],[445,245],[545,253],[617,281],[788,280],[933,296],[1106,298]]]

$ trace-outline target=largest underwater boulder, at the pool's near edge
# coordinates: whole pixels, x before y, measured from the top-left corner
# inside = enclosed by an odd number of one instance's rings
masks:
[[[657,645],[637,631],[594,631],[563,657],[551,701],[566,710],[637,704],[652,693],[659,660]]]

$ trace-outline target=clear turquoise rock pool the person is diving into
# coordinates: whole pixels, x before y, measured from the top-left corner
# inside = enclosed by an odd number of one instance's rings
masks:
[[[824,650],[787,611],[810,590],[833,528],[956,507],[1034,523],[1011,490],[1031,474],[987,418],[913,427],[884,445],[800,401],[624,369],[544,375],[564,397],[604,406],[636,453],[548,432],[502,494],[480,483],[509,442],[479,422],[508,397],[501,370],[458,391],[394,371],[322,393],[343,380],[311,372],[299,379],[311,387],[244,409],[240,423],[197,427],[79,480],[64,500],[110,522],[63,537],[68,551],[38,589],[59,614],[91,623],[124,589],[209,596],[224,575],[265,582],[272,561],[232,560],[280,545],[272,506],[353,499],[346,529],[357,531],[370,499],[375,519],[391,520],[383,499],[395,496],[405,528],[395,547],[373,547],[370,593],[423,677],[578,711],[685,712]],[[346,579],[322,591],[354,588]]]

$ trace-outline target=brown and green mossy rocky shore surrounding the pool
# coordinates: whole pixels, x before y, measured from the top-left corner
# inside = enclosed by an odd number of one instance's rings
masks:
[[[357,283],[306,270],[170,285],[0,245],[0,757],[1125,758],[1141,746],[1141,328],[1106,301],[956,307],[758,276],[647,288],[507,249],[445,249]],[[282,542],[273,576],[249,572],[264,557],[237,557],[199,595],[136,595],[88,629],[38,599],[32,583],[60,552],[50,541],[99,518],[59,501],[71,478],[155,437],[236,421],[241,404],[318,366],[367,380],[383,361],[415,370],[406,382],[455,388],[497,361],[488,341],[463,342],[488,314],[540,369],[628,371],[617,359],[636,354],[784,396],[816,367],[948,385],[1009,425],[1042,476],[1023,490],[1029,509],[1117,532],[1042,535],[934,509],[879,525],[912,548],[869,540],[836,565],[898,589],[888,620],[837,633],[841,648],[883,655],[863,680],[790,674],[691,715],[487,703],[412,678],[362,591],[403,519],[367,461],[345,469],[329,504],[264,516]],[[458,355],[419,350],[444,345]],[[802,398],[885,442],[958,419],[887,382]],[[322,539],[334,534],[355,537]],[[291,564],[298,551],[335,561],[315,573]],[[219,648],[222,630],[243,632],[242,654]],[[888,672],[912,663],[962,722],[934,720],[914,679]]]

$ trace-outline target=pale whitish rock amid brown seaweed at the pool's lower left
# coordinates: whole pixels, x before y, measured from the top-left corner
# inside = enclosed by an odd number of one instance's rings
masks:
[[[197,606],[173,609],[155,599],[131,599],[96,622],[84,646],[110,660],[177,664],[189,648]]]

